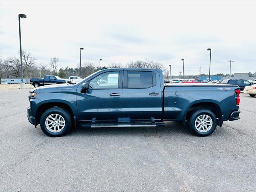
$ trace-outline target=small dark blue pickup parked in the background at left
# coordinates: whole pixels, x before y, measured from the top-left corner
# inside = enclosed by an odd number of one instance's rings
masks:
[[[31,78],[29,83],[34,85],[34,87],[39,87],[43,85],[67,83],[68,81],[61,79],[58,76],[46,75],[44,78]]]

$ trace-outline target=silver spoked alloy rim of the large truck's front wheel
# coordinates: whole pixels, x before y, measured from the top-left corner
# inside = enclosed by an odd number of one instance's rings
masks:
[[[65,127],[65,120],[60,114],[50,114],[45,120],[45,126],[50,132],[58,133]]]

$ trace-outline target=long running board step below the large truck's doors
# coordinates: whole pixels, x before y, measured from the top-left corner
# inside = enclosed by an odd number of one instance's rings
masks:
[[[104,127],[159,127],[165,126],[164,123],[93,123],[81,124],[82,127],[104,128]]]

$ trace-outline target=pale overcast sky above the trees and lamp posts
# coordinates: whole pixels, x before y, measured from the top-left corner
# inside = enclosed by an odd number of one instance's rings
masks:
[[[0,55],[22,49],[38,62],[101,66],[146,58],[171,73],[256,71],[256,1],[0,1]]]

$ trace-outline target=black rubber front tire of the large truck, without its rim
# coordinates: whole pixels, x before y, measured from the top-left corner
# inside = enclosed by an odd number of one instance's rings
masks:
[[[65,125],[64,125],[64,128],[62,128],[62,130],[60,130],[60,132],[51,132],[50,130],[48,130],[46,128],[46,118],[51,114],[59,114],[64,118]],[[46,110],[42,114],[42,116],[40,118],[40,127],[41,127],[42,131],[48,136],[51,136],[51,137],[63,136],[64,134],[68,133],[70,128],[72,127],[72,118],[71,118],[70,113],[66,109],[63,109],[60,107],[53,107],[53,108]]]

